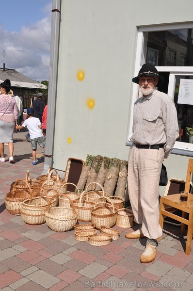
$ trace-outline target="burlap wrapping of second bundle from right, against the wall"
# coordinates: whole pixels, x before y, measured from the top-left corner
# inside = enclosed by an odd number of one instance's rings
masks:
[[[106,176],[105,183],[104,183],[104,192],[107,193],[108,196],[112,196],[114,192],[114,188],[116,186],[117,178],[119,175],[119,168],[111,167],[109,172]]]

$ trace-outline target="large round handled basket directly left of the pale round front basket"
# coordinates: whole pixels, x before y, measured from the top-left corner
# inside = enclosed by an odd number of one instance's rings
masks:
[[[42,196],[33,197],[36,188],[40,189],[40,192],[43,192]],[[46,222],[45,220],[45,211],[48,207],[49,197],[44,189],[41,187],[35,187],[32,190],[31,196],[29,199],[26,199],[22,202],[21,205],[21,216],[23,221],[30,225],[39,225]],[[52,201],[50,207],[56,205],[56,200]]]

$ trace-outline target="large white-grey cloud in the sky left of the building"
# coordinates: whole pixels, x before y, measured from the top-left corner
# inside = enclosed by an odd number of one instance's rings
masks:
[[[47,16],[20,32],[5,31],[0,26],[0,67],[16,69],[36,81],[48,80],[51,33],[51,3],[44,7]]]

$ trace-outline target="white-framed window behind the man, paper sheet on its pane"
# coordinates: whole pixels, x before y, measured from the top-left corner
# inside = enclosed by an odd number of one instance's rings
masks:
[[[177,108],[180,131],[174,148],[193,155],[193,23],[139,28],[137,44],[134,76],[143,64],[156,65],[165,80],[159,90],[172,97]],[[139,85],[133,84],[132,103],[139,96]],[[130,118],[128,140],[133,108]]]

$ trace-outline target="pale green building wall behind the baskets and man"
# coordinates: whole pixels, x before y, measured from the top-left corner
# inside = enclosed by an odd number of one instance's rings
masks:
[[[193,21],[193,1],[62,0],[53,167],[87,154],[127,160],[137,28]],[[85,73],[83,81],[77,71]],[[95,106],[89,109],[87,99]],[[71,143],[69,143],[69,139]],[[168,178],[188,157],[171,154]],[[163,192],[164,187],[161,187]]]

